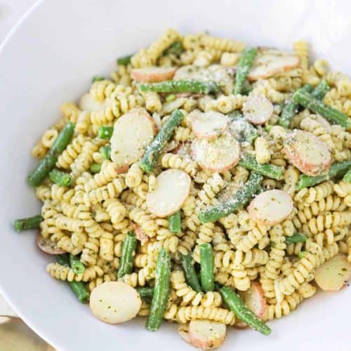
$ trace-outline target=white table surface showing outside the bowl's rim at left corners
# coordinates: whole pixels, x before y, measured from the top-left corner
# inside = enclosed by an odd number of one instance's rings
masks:
[[[5,39],[6,34],[20,20],[22,15],[37,0],[0,0],[0,43]],[[4,298],[0,295],[0,314],[10,314],[13,312],[8,307]]]

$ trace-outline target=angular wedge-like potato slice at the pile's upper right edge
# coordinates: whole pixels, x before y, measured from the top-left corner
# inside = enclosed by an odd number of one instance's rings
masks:
[[[265,79],[275,74],[289,71],[289,69],[298,67],[300,58],[293,53],[284,53],[274,49],[261,49],[258,51],[253,67],[247,75],[251,81]]]

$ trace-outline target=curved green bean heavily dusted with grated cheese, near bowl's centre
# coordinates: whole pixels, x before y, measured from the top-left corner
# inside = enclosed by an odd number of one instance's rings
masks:
[[[251,197],[258,191],[263,176],[258,173],[251,173],[249,180],[238,190],[228,201],[222,202],[216,206],[205,208],[199,213],[201,223],[214,222],[221,217],[227,216],[249,202]]]

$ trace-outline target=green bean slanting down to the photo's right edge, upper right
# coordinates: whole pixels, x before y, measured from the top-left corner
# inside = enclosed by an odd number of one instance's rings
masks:
[[[310,93],[298,89],[298,91],[293,93],[293,101],[303,105],[303,107],[314,113],[320,114],[331,123],[340,124],[340,126],[343,126],[345,129],[351,128],[351,119],[347,117],[346,114],[343,114],[343,112],[331,106],[325,105],[322,101],[313,98]]]

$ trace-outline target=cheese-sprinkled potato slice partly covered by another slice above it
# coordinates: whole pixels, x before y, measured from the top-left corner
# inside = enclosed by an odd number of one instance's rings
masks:
[[[225,133],[216,140],[194,140],[192,154],[207,171],[224,172],[238,164],[240,145],[232,135]]]

